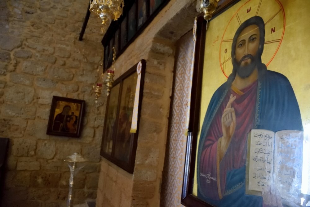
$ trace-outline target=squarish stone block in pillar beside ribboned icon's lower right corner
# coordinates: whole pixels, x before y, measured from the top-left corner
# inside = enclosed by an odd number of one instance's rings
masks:
[[[135,164],[157,166],[159,149],[154,147],[139,147],[136,151]]]

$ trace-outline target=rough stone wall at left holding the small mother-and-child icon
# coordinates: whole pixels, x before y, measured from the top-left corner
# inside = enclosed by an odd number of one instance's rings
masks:
[[[91,93],[102,70],[100,21],[91,16],[78,41],[88,1],[0,1],[0,137],[10,145],[3,206],[65,206],[69,167],[86,163],[75,180],[77,203],[95,199],[104,122],[102,97]],[[46,134],[52,96],[86,101],[80,138]]]

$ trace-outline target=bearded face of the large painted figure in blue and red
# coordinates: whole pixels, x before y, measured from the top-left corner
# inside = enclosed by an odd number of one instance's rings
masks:
[[[244,28],[237,38],[235,58],[237,73],[241,78],[248,77],[256,67],[259,49],[259,27],[250,25]]]

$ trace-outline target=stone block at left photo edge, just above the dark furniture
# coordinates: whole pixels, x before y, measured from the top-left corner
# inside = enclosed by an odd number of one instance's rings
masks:
[[[0,136],[22,137],[27,127],[25,119],[0,119]]]

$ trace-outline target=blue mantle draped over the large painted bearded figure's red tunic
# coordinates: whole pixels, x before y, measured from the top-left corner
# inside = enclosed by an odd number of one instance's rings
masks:
[[[213,94],[203,121],[201,136],[198,145],[197,159],[197,183],[198,198],[215,206],[263,206],[261,196],[245,194],[246,166],[232,169],[226,173],[226,184],[223,198],[220,200],[210,199],[204,194],[200,186],[200,156],[205,143],[205,138],[213,118],[224,97],[231,87],[234,77],[222,84]],[[299,106],[289,80],[282,74],[266,69],[261,64],[257,86],[257,99],[255,108],[255,129],[266,129],[273,132],[280,130],[303,131]],[[212,189],[218,191],[218,189]],[[227,193],[226,193],[227,192]]]

